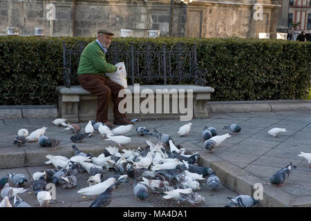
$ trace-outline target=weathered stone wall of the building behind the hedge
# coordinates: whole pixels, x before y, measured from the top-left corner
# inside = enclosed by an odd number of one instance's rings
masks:
[[[185,4],[176,0],[173,35],[176,37],[258,37],[258,32],[276,32],[279,0],[214,0]],[[48,4],[55,5],[55,20]],[[17,27],[19,35],[35,35],[45,28],[47,36],[95,36],[110,28],[115,36],[121,29],[169,32],[169,0],[0,0],[0,35]],[[263,5],[263,19],[255,21],[254,4]]]

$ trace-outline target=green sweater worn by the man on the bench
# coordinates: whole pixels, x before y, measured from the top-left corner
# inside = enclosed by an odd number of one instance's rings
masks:
[[[117,71],[117,67],[106,61],[105,53],[96,41],[92,41],[84,48],[80,57],[77,75],[104,75],[115,71]]]

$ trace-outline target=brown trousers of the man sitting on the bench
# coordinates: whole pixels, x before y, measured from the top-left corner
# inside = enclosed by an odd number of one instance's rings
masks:
[[[93,95],[97,95],[97,114],[96,122],[108,122],[108,108],[112,96],[113,117],[115,119],[126,118],[125,114],[120,113],[118,106],[124,97],[117,97],[119,91],[124,87],[117,84],[109,77],[103,75],[84,74],[78,76],[79,84]],[[126,106],[124,105],[124,108]]]

